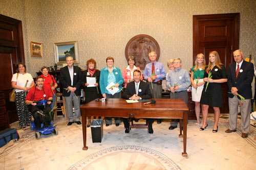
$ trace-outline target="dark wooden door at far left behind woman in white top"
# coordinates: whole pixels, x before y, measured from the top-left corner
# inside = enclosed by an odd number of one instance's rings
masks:
[[[9,123],[17,120],[16,106],[14,102],[9,102],[9,92],[12,90],[12,75],[19,62],[25,63],[22,21],[0,14],[0,91],[5,94]]]

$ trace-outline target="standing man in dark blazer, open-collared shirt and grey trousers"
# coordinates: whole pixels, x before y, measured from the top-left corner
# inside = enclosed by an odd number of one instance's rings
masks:
[[[67,66],[60,69],[60,83],[62,84],[62,93],[65,96],[66,111],[69,118],[68,126],[74,122],[81,125],[80,122],[80,95],[81,95],[81,68],[74,66],[72,56],[66,57]],[[74,104],[74,114],[73,114]]]

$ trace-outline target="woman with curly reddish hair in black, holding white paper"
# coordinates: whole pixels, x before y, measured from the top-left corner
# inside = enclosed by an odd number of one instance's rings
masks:
[[[102,98],[100,88],[99,88],[99,77],[100,70],[96,69],[96,61],[94,59],[90,59],[86,63],[87,70],[82,72],[82,86],[84,87],[84,92],[86,93],[86,103],[89,103],[95,99]],[[94,84],[90,84],[90,79],[95,78],[92,82]],[[91,82],[91,81],[90,81]],[[91,126],[91,117],[88,117],[87,127]]]

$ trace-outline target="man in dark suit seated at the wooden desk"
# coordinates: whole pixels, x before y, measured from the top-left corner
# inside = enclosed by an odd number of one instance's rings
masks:
[[[148,83],[140,81],[141,72],[140,70],[134,70],[133,72],[133,79],[134,82],[130,82],[127,84],[125,91],[123,92],[123,98],[124,99],[130,99],[130,100],[142,100],[142,99],[151,99],[152,93],[150,90],[150,86]],[[125,133],[129,133],[129,121],[127,118],[122,118]],[[154,119],[150,118],[147,119],[148,122],[148,133],[153,134],[153,128],[152,124],[154,122]]]

